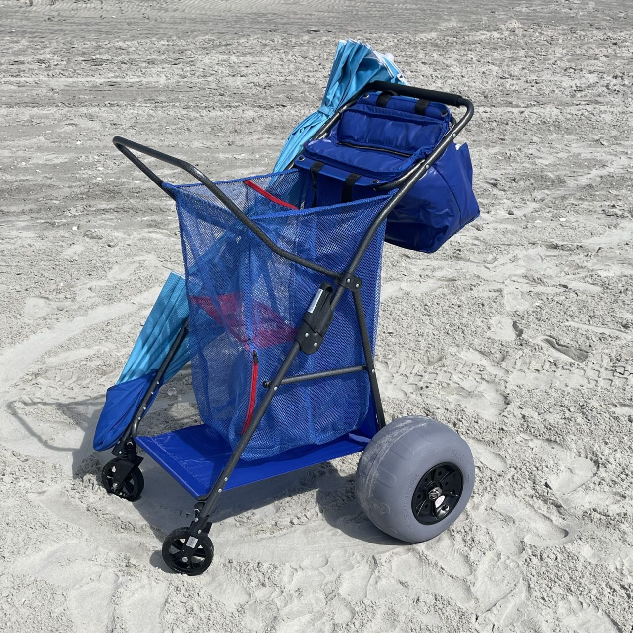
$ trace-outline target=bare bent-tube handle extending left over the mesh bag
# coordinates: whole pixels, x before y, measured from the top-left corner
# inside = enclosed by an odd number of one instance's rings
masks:
[[[151,147],[146,147],[141,145],[140,143],[130,141],[128,139],[124,139],[121,136],[115,136],[112,139],[112,142],[116,149],[120,151],[123,156],[128,158],[128,160],[132,161],[135,166],[137,166],[141,172],[143,172],[147,178],[149,178],[154,184],[156,184],[162,191],[164,191],[169,197],[173,200],[176,199],[175,195],[171,191],[167,191],[163,185],[165,184],[165,180],[161,179],[154,173],[138,156],[132,153],[132,149],[141,154],[146,154],[147,156],[151,156],[152,158],[157,158],[163,163],[168,163],[168,165],[173,165],[175,167],[179,167],[185,172],[192,175],[196,180],[201,182],[212,194],[215,196],[225,207],[233,213],[237,219],[242,222],[249,230],[251,230],[268,248],[270,248],[273,253],[279,255],[280,257],[284,257],[287,260],[294,261],[294,263],[299,264],[301,266],[305,266],[306,268],[310,268],[310,270],[314,270],[315,272],[321,273],[322,275],[327,275],[331,279],[335,281],[339,279],[341,273],[334,272],[334,270],[330,270],[329,268],[325,268],[325,266],[320,266],[317,263],[305,260],[303,257],[291,253],[290,251],[286,251],[280,246],[277,246],[275,242],[268,237],[268,235],[263,232],[263,230],[258,227],[258,225],[249,218],[244,211],[242,211],[237,204],[230,199],[227,194],[225,194],[218,185],[213,182],[208,176],[206,176],[203,172],[201,172],[196,166],[191,163],[187,163],[187,161],[181,160],[180,158],[175,158],[175,156],[170,156],[169,154],[165,154],[163,152],[158,151],[158,149],[152,149]]]

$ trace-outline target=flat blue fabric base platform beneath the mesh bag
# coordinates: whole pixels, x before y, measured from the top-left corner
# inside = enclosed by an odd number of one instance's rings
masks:
[[[348,433],[327,444],[301,446],[266,460],[237,463],[225,489],[246,486],[323,461],[362,451],[370,437]],[[136,442],[184,488],[198,498],[206,495],[232,453],[229,444],[218,444],[206,424],[179,429],[159,436],[137,436]]]

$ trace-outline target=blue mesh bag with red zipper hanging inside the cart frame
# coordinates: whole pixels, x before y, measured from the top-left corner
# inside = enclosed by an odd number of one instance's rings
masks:
[[[308,173],[293,169],[216,183],[280,247],[345,270],[389,196],[314,206]],[[262,382],[279,370],[325,275],[273,253],[204,185],[163,187],[175,196],[189,297],[193,387],[203,422],[237,446]],[[325,196],[325,194],[324,194]],[[327,196],[325,196],[327,197]],[[380,299],[384,223],[357,270],[372,346]],[[351,293],[344,294],[318,354],[300,354],[292,373],[362,365]],[[367,372],[284,385],[249,441],[243,460],[324,444],[358,429],[370,405]]]

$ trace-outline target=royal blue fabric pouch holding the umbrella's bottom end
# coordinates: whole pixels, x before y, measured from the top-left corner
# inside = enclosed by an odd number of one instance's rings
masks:
[[[149,372],[132,380],[127,380],[127,382],[113,385],[106,391],[106,403],[101,410],[92,440],[92,446],[96,451],[105,451],[116,444],[127,425],[132,421],[134,411],[141,404],[141,400],[155,376],[156,372]],[[160,389],[160,385],[157,387]],[[148,410],[158,394],[158,389],[154,391],[154,396],[147,404]]]

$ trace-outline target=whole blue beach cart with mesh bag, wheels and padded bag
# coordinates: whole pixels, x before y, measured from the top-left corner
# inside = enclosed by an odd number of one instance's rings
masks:
[[[455,120],[449,107],[465,114]],[[108,491],[139,497],[140,447],[196,499],[191,524],[163,543],[172,570],[210,565],[223,491],[360,451],[357,498],[387,534],[426,541],[465,508],[467,443],[430,418],[385,425],[373,350],[385,239],[431,252],[479,213],[468,150],[454,144],[472,115],[460,96],[372,82],[287,169],[226,182],[113,140],[175,201],[185,280],[171,277],[163,298],[186,295],[188,305],[168,311],[161,337],[150,315],[139,349],[160,339],[160,351],[141,354],[120,382],[139,381],[132,395],[108,395],[95,446],[112,448]],[[197,182],[164,182],[137,153]],[[188,356],[202,423],[142,435],[158,388]]]

